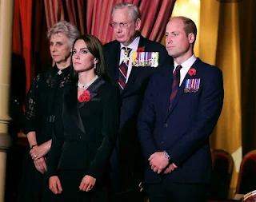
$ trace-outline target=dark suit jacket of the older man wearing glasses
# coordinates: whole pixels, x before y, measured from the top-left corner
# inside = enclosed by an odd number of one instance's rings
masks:
[[[130,77],[122,91],[122,106],[120,113],[120,126],[118,135],[118,158],[124,160],[123,166],[134,166],[136,160],[142,159],[142,152],[139,149],[137,118],[142,107],[142,101],[146,86],[150,77],[164,65],[172,61],[165,46],[158,42],[152,42],[140,35],[138,47],[143,47],[145,52],[159,52],[158,67],[133,66]],[[105,45],[107,53],[107,69],[111,80],[118,85],[118,65],[120,61],[120,42],[113,41]],[[134,164],[130,164],[130,160]],[[126,175],[129,175],[126,173]]]

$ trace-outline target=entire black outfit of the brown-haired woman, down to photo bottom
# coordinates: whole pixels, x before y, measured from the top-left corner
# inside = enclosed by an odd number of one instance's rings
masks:
[[[55,122],[47,176],[58,176],[62,194],[54,201],[109,201],[110,155],[118,135],[118,87],[99,77],[90,87],[90,100],[78,102],[78,87],[70,85],[62,118]],[[90,192],[79,191],[86,175],[96,178]]]

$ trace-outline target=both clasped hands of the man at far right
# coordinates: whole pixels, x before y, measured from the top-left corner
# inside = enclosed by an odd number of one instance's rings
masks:
[[[151,169],[154,172],[158,172],[158,174],[163,170],[165,174],[168,174],[177,168],[174,163],[168,166],[169,160],[166,158],[164,152],[154,152],[148,160],[150,161]]]

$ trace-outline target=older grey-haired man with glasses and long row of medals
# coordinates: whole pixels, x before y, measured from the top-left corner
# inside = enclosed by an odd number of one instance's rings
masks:
[[[108,73],[119,86],[122,107],[117,149],[112,156],[112,184],[115,201],[139,200],[143,160],[137,133],[137,118],[146,86],[153,73],[170,63],[164,46],[139,33],[141,14],[131,3],[119,3],[112,10],[116,40],[105,45]]]

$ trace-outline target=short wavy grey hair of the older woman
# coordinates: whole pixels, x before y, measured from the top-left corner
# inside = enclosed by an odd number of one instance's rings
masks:
[[[74,40],[80,36],[78,29],[71,24],[70,22],[60,21],[55,23],[48,31],[47,38],[50,40],[50,37],[53,34],[62,33],[70,42],[70,47],[73,46]]]

